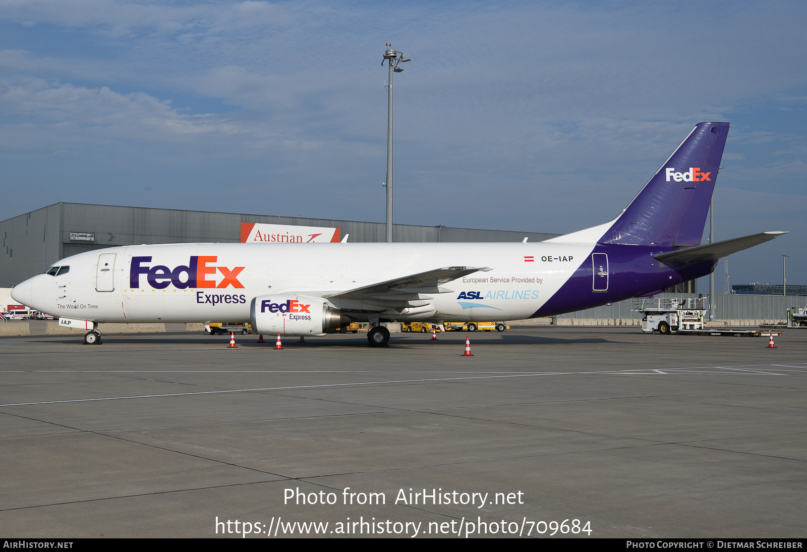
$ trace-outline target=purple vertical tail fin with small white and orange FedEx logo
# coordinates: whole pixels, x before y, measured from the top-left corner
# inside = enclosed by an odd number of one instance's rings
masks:
[[[601,244],[700,245],[729,123],[698,123],[599,240]]]

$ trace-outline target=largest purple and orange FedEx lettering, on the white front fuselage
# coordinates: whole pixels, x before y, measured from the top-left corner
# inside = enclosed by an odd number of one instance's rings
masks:
[[[129,286],[132,288],[140,287],[140,274],[145,274],[148,285],[157,290],[163,290],[171,284],[174,284],[174,287],[180,290],[188,287],[224,288],[233,286],[243,288],[244,285],[238,281],[238,274],[246,267],[236,266],[229,269],[226,266],[208,266],[215,263],[218,258],[215,255],[190,257],[187,265],[180,265],[171,269],[163,265],[148,266],[146,263],[150,263],[152,257],[132,257],[132,268],[129,270]],[[224,276],[219,285],[215,283],[215,274],[217,272]],[[207,279],[208,276],[212,278]]]

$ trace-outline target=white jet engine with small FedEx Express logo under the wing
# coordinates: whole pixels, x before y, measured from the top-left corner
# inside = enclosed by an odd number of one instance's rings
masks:
[[[339,328],[347,317],[324,299],[303,295],[261,295],[252,300],[249,322],[253,332],[282,336],[318,336]]]

